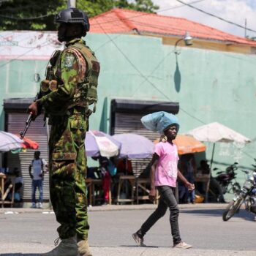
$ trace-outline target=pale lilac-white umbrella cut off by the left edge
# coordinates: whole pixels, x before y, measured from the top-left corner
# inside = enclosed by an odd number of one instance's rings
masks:
[[[10,132],[0,131],[0,152],[23,148],[21,143],[23,143],[23,140],[20,140],[18,136]]]

